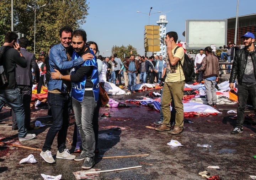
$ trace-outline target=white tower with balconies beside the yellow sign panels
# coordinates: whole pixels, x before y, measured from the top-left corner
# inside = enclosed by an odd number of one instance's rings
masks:
[[[162,55],[164,58],[166,56],[166,46],[164,45],[164,37],[166,34],[166,24],[168,23],[168,21],[166,20],[166,15],[160,15],[159,16],[159,21],[156,21],[156,23],[158,24],[158,26],[160,26],[159,29],[159,35],[160,35],[160,51],[156,52],[156,55]]]

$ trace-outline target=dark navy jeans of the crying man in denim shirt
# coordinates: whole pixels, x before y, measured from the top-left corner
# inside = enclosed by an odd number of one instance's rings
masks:
[[[53,123],[47,132],[46,140],[42,148],[43,152],[51,149],[53,140],[58,133],[58,151],[60,153],[66,149],[66,134],[69,124],[69,110],[71,106],[71,98],[67,93],[55,94],[48,92],[48,104],[52,109]]]

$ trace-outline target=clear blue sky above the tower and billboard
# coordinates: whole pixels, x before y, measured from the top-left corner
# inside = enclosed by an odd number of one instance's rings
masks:
[[[236,16],[237,0],[87,0],[89,15],[81,26],[88,41],[95,41],[100,55],[110,56],[114,45],[132,45],[144,54],[143,33],[149,16],[136,11],[166,14],[167,32],[176,31],[185,41],[185,21],[188,19],[226,19]],[[256,13],[256,0],[240,0],[238,15]],[[170,11],[170,12],[167,12]],[[161,13],[150,15],[150,25],[156,24]],[[167,12],[167,13],[165,13]],[[108,50],[109,52],[107,52]],[[104,52],[104,54],[103,54]]]

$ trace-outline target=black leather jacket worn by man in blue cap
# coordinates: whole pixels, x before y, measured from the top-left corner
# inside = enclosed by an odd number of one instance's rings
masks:
[[[251,55],[252,65],[254,67],[254,75],[256,76],[256,53],[255,52],[256,52],[255,46],[254,46],[254,51],[252,52],[249,52],[245,48],[235,51],[235,57],[232,65],[229,83],[234,83],[235,78],[237,76],[238,84],[242,84],[242,78],[244,77],[244,72],[245,72],[249,53]]]

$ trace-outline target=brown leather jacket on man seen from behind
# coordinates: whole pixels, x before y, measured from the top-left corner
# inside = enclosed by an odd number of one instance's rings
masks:
[[[218,77],[219,75],[219,60],[212,54],[208,54],[202,60],[202,66],[198,69],[198,72],[204,71],[203,78]]]

